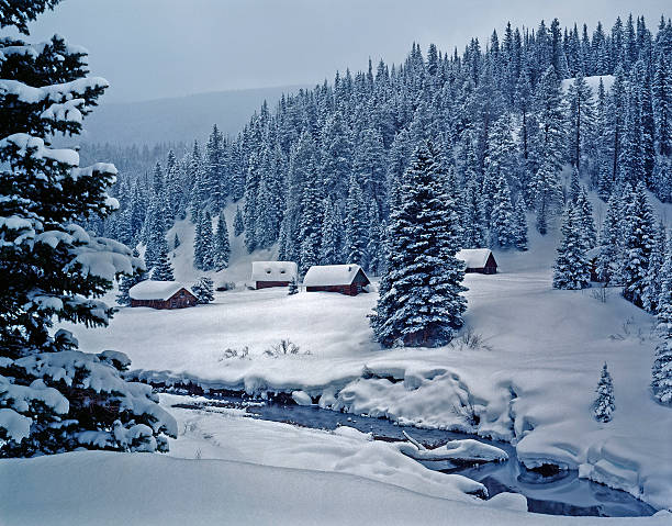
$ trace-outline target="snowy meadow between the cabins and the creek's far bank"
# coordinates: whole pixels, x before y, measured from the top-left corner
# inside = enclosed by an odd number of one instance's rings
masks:
[[[175,228],[182,239],[176,277],[189,282],[195,277],[191,228],[188,222]],[[300,398],[307,393],[326,407],[502,438],[528,467],[580,469],[653,506],[672,507],[672,412],[649,395],[653,318],[616,290],[605,303],[590,290],[552,290],[557,239],[531,237],[528,253],[495,253],[499,275],[467,276],[466,320],[482,340],[475,348],[458,340],[441,349],[380,349],[367,320],[374,292],[289,296],[284,289],[243,287],[195,309],[122,309],[108,329],[75,332],[85,350],[127,352],[146,378],[301,391]],[[269,257],[245,254],[235,239],[232,268],[215,282],[242,286],[250,261]],[[265,355],[281,338],[295,343],[299,354]],[[243,358],[226,352],[245,347]],[[608,424],[595,422],[591,411],[605,361],[616,394]]]

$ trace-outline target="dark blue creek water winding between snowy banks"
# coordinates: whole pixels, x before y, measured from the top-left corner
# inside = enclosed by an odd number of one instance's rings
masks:
[[[448,440],[473,438],[505,450],[509,459],[505,462],[488,462],[477,466],[456,466],[446,461],[423,463],[434,470],[458,473],[481,482],[488,488],[491,497],[503,492],[520,493],[527,497],[527,508],[530,512],[549,515],[601,517],[639,517],[656,513],[656,508],[635,499],[629,493],[579,479],[578,471],[559,471],[552,469],[553,467],[541,470],[542,473],[527,470],[518,462],[515,448],[507,443],[486,440],[475,435],[440,429],[402,427],[384,418],[354,416],[317,406],[300,406],[292,403],[258,403],[243,401],[242,399],[217,398],[216,402],[213,400],[206,404],[180,404],[179,406],[205,409],[209,404],[242,407],[251,417],[315,429],[332,430],[339,425],[347,425],[363,433],[371,433],[379,440],[405,440],[406,438],[402,433],[402,430],[405,430],[428,447],[441,446]]]

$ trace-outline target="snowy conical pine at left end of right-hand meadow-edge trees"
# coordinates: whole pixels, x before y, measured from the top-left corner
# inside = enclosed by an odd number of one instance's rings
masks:
[[[587,245],[583,234],[579,210],[568,204],[562,222],[562,242],[553,266],[553,288],[579,290],[591,284],[591,273],[585,256]]]

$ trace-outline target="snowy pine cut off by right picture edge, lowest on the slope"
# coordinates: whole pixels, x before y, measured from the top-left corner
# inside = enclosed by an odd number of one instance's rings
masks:
[[[672,237],[661,277],[657,328],[662,342],[656,348],[651,368],[651,392],[660,403],[672,405]]]

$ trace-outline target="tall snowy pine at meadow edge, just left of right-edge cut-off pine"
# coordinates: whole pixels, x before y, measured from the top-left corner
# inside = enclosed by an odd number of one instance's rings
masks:
[[[642,306],[645,279],[649,258],[656,243],[656,222],[643,182],[631,192],[624,228],[624,254],[620,275],[624,280],[623,295]]]

